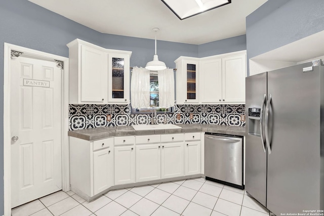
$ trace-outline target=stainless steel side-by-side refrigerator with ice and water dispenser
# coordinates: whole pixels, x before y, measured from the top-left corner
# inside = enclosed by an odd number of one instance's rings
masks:
[[[247,77],[246,116],[246,191],[277,216],[323,210],[322,62]]]

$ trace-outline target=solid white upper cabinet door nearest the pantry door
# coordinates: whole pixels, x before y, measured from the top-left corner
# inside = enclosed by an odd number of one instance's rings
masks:
[[[107,103],[106,56],[105,52],[81,46],[81,102]]]

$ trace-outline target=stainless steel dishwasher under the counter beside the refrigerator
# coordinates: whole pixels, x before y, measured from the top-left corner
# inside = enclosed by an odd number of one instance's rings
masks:
[[[244,189],[243,138],[205,134],[205,175],[207,180]]]

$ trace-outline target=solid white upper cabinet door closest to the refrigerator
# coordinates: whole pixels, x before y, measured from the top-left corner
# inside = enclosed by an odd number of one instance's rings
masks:
[[[223,58],[222,71],[222,102],[245,103],[246,55]]]

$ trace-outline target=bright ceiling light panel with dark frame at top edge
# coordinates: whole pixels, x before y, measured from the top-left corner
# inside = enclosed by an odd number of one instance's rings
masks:
[[[161,0],[180,19],[186,19],[231,3],[231,0]]]

